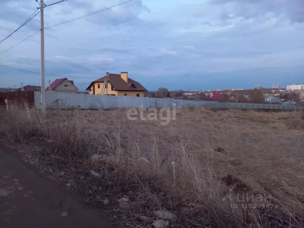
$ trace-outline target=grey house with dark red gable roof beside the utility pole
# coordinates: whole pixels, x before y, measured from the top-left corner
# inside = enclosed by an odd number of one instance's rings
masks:
[[[47,86],[46,92],[59,92],[59,93],[77,93],[78,88],[74,85],[74,81],[67,78],[59,78]]]

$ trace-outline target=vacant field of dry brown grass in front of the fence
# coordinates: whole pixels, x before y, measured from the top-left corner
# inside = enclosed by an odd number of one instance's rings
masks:
[[[2,110],[0,132],[42,140],[64,165],[94,168],[96,199],[132,191],[137,214],[165,208],[188,227],[303,227],[303,112],[182,109],[164,119],[15,106]],[[91,164],[93,154],[105,159]]]

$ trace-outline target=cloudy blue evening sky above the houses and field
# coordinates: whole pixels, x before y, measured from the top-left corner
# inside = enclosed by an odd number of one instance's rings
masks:
[[[57,0],[45,0],[49,5]],[[120,0],[69,0],[44,9],[44,26]],[[0,40],[38,7],[0,2]],[[39,14],[0,53],[40,29]],[[45,72],[80,89],[127,71],[147,90],[212,90],[304,83],[303,0],[133,0],[45,29]],[[0,64],[40,72],[40,32],[0,54]],[[40,75],[0,67],[0,87],[40,85]],[[56,76],[46,75],[54,81]]]

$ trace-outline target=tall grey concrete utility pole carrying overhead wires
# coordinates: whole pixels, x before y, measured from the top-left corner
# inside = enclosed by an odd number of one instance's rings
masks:
[[[44,88],[44,21],[43,21],[44,2],[40,0],[40,33],[41,33],[41,108],[45,111],[45,88]]]

